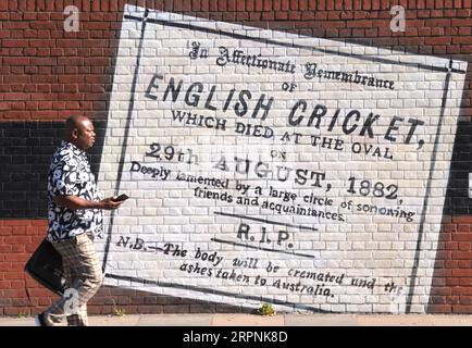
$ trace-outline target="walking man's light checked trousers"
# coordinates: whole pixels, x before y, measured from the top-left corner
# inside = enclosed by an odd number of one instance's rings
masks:
[[[64,263],[70,266],[71,281],[69,284],[76,291],[73,294],[73,298],[63,296],[54,302],[45,312],[46,322],[48,325],[57,325],[60,322],[59,318],[62,320],[64,315],[67,315],[69,325],[86,326],[87,302],[94,297],[103,281],[92,237],[82,234],[71,240],[58,243],[54,247],[62,254]],[[73,302],[67,303],[67,300]],[[65,304],[67,304],[66,309],[64,309]],[[71,314],[69,311],[71,309],[75,313]]]

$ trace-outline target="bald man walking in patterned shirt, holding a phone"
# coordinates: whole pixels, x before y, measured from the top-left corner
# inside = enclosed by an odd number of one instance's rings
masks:
[[[102,233],[101,210],[114,210],[122,201],[100,200],[85,150],[94,146],[95,128],[85,116],[71,116],[65,139],[52,157],[48,178],[48,240],[62,256],[66,288],[75,290],[73,313],[61,297],[36,315],[39,326],[87,325],[87,302],[100,288],[103,275],[94,238]]]

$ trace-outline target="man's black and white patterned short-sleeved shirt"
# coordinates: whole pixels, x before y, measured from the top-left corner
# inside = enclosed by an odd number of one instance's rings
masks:
[[[48,240],[58,243],[83,233],[102,234],[102,213],[99,209],[71,210],[55,204],[55,196],[78,196],[100,200],[95,176],[83,150],[62,141],[54,152],[48,177]]]

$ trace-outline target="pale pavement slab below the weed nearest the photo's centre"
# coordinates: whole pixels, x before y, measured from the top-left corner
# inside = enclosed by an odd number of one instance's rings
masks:
[[[213,326],[284,326],[284,315],[213,314]]]

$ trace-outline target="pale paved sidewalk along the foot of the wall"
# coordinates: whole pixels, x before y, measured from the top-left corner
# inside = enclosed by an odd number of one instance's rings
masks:
[[[440,314],[140,314],[90,315],[90,326],[472,326],[472,315]],[[1,316],[0,326],[34,326],[33,318]]]

